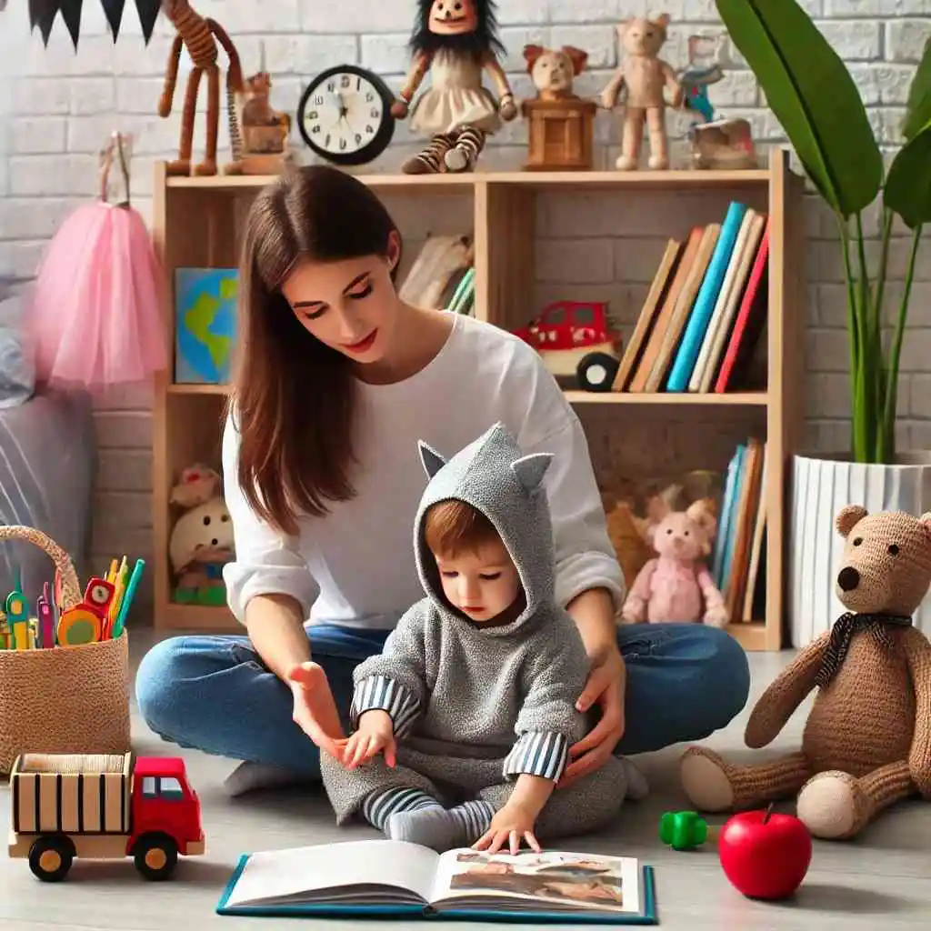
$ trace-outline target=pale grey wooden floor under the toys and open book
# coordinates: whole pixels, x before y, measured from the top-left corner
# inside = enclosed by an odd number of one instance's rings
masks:
[[[136,631],[134,652],[145,646]],[[151,637],[149,638],[151,642]],[[754,695],[771,681],[789,654],[752,654]],[[138,657],[137,657],[138,658]],[[752,697],[752,696],[751,696]],[[708,744],[735,759],[742,749],[743,723],[749,711]],[[803,712],[790,722],[774,749],[793,746],[801,732]],[[173,749],[146,730],[134,717],[135,749],[140,753],[171,753]],[[675,853],[659,843],[656,830],[663,811],[685,806],[676,779],[681,748],[670,748],[638,759],[651,780],[652,795],[629,803],[617,830],[573,844],[589,849],[641,857],[654,864],[660,925],[670,931],[856,931],[928,926],[931,913],[931,806],[905,803],[884,816],[856,843],[816,842],[812,869],[795,900],[761,904],[741,897],[727,883],[713,849]],[[768,752],[768,751],[760,751]],[[377,836],[366,827],[338,830],[326,800],[315,791],[263,793],[228,799],[223,776],[227,761],[200,753],[185,753],[191,778],[203,803],[207,832],[206,857],[182,861],[170,884],[146,884],[130,861],[75,862],[62,884],[40,884],[23,860],[0,860],[0,928],[119,929],[119,931],[201,931],[208,927],[294,928],[294,920],[219,917],[214,908],[240,852]],[[761,757],[758,756],[758,759]],[[8,789],[2,787],[5,819]],[[722,818],[718,818],[720,823]],[[8,825],[8,820],[7,820]],[[922,917],[924,915],[924,918]],[[297,926],[334,926],[305,922]],[[394,928],[401,923],[379,923]],[[363,927],[365,922],[340,922],[339,927]],[[368,924],[371,927],[371,923]],[[410,925],[415,926],[414,924]],[[494,925],[486,925],[491,928]]]

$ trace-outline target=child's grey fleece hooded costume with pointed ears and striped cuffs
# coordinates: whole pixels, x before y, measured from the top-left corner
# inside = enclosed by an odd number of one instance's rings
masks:
[[[592,722],[575,708],[589,661],[573,619],[554,599],[553,534],[542,484],[551,456],[524,455],[503,425],[449,462],[420,444],[428,484],[414,523],[418,573],[427,597],[399,620],[382,654],[355,670],[353,726],[368,710],[394,722],[398,765],[381,754],[346,770],[321,755],[324,785],[343,823],[371,792],[421,789],[443,805],[506,803],[522,773],[557,780],[572,744]],[[476,623],[442,595],[425,544],[430,506],[458,499],[492,521],[513,560],[526,600],[509,623]],[[550,796],[540,838],[596,830],[618,813],[627,766],[612,758]]]

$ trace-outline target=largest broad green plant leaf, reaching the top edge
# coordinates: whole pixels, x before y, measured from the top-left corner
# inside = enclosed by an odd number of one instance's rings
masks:
[[[735,46],[805,171],[844,217],[883,184],[883,156],[857,85],[796,0],[716,0]]]

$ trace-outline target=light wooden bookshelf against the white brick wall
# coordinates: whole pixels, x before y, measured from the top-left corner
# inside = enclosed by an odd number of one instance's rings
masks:
[[[770,216],[769,304],[764,336],[766,385],[759,391],[725,394],[588,393],[566,396],[580,412],[592,411],[606,429],[623,430],[623,418],[654,412],[709,411],[736,418],[759,415],[767,446],[765,616],[734,623],[729,631],[748,650],[777,650],[783,645],[786,579],[786,479],[796,431],[801,425],[804,293],[802,178],[789,171],[788,153],[775,152],[766,169],[745,171],[588,171],[485,172],[462,175],[359,174],[380,195],[392,198],[452,196],[471,201],[475,243],[476,317],[512,329],[525,325],[541,308],[533,306],[536,201],[551,192],[621,193],[631,204],[654,192],[683,192],[714,198],[721,215],[729,198],[745,197]],[[271,181],[264,177],[169,178],[164,163],[155,166],[153,236],[165,265],[169,293],[179,267],[236,265],[237,232],[250,198]],[[691,220],[683,212],[677,230]],[[404,230],[402,228],[402,234]],[[500,244],[506,244],[502,249]],[[497,244],[497,247],[496,245]],[[170,358],[174,357],[173,314],[167,321]],[[169,492],[183,466],[197,461],[219,464],[225,385],[173,384],[170,371],[157,379],[153,412],[153,529],[155,627],[160,630],[232,630],[225,608],[173,603],[168,541],[173,516]],[[605,421],[605,418],[609,420]],[[746,439],[735,433],[734,443]]]

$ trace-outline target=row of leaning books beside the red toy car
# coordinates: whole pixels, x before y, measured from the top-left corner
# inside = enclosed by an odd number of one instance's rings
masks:
[[[614,391],[740,390],[767,312],[769,219],[732,201],[722,223],[669,239]]]

